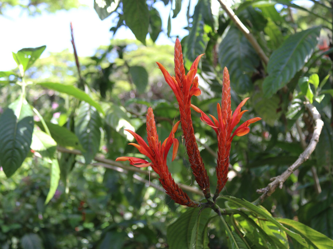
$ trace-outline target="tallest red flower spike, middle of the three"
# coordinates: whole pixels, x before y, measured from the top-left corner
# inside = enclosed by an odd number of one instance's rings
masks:
[[[162,71],[166,83],[173,91],[179,105],[181,129],[183,131],[186,151],[195,181],[204,193],[206,199],[210,198],[209,179],[207,171],[202,162],[198,145],[194,136],[192,118],[191,118],[191,97],[201,94],[198,88],[198,78],[195,77],[200,58],[199,55],[193,62],[190,70],[185,75],[183,56],[181,51],[180,41],[177,38],[174,45],[174,73],[175,77],[171,76],[163,65],[157,62]]]

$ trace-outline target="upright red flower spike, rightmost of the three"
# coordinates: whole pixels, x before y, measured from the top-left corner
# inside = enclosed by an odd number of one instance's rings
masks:
[[[237,136],[243,136],[250,131],[248,127],[250,124],[261,120],[261,118],[253,118],[245,121],[241,124],[233,133],[232,130],[239,123],[242,115],[247,110],[240,111],[240,109],[245,105],[245,102],[249,98],[244,99],[236,108],[235,112],[232,114],[231,111],[231,96],[230,96],[230,80],[227,68],[223,70],[223,86],[222,86],[222,102],[221,106],[217,104],[217,119],[212,115],[209,115],[212,120],[199,108],[191,105],[194,111],[201,113],[201,121],[205,124],[211,126],[217,135],[218,142],[218,152],[217,152],[217,186],[213,197],[213,200],[217,198],[222,188],[227,181],[227,175],[229,170],[229,155],[231,149],[232,138]]]

